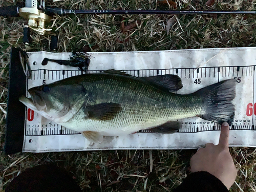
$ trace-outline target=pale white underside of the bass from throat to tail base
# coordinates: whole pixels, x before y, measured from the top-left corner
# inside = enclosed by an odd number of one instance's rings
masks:
[[[112,120],[95,120],[87,118],[84,112],[79,110],[72,119],[59,124],[77,132],[92,131],[104,136],[121,136],[150,129],[167,121],[193,117],[197,113],[197,111],[191,111],[190,113],[184,111],[177,114],[170,109],[159,110],[155,107],[150,110],[145,107],[126,108]]]

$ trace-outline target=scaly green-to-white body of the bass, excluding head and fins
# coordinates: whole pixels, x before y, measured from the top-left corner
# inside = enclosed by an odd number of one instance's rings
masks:
[[[86,82],[82,82],[88,91],[95,93],[94,101],[88,104],[122,103],[122,111],[112,121],[87,119],[86,124],[84,119],[87,117],[80,112],[70,121],[60,123],[61,125],[76,131],[105,132],[108,130],[120,135],[119,131],[123,134],[134,133],[169,120],[193,117],[202,111],[202,98],[200,97],[166,93],[143,82],[137,82],[136,79],[123,79],[123,76],[105,75],[103,77],[97,78],[94,75],[92,78],[88,75],[90,81],[84,79]],[[130,81],[129,87],[126,86],[128,80]],[[95,87],[97,91],[94,90]],[[198,104],[192,106],[191,102],[193,101]],[[182,107],[184,103],[190,104],[188,107]],[[81,127],[81,129],[77,127]],[[114,135],[113,133],[111,135]]]

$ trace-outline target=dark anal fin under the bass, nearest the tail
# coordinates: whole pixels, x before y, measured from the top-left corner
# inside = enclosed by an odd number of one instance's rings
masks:
[[[157,127],[148,129],[150,131],[154,131],[156,133],[162,134],[173,134],[176,133],[181,127],[181,122],[179,121],[167,121],[164,124],[161,124]]]

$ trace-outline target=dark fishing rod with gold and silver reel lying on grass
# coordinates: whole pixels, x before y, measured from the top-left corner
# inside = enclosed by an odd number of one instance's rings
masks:
[[[53,15],[65,16],[69,14],[108,14],[108,15],[133,15],[133,14],[255,14],[256,11],[187,11],[187,10],[76,10],[58,7],[46,7],[44,0],[26,0],[16,6],[0,7],[0,16],[24,17],[28,20],[24,26],[23,42],[29,44],[30,29],[40,35],[46,34],[51,29],[46,28]],[[54,36],[53,36],[54,37]],[[57,43],[57,42],[56,42]],[[53,46],[55,47],[55,46]]]

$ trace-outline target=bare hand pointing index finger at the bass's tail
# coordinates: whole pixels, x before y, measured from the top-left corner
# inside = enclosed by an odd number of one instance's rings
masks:
[[[237,169],[228,150],[229,125],[221,125],[218,145],[207,143],[191,157],[191,172],[205,171],[214,175],[229,189],[237,177]]]

